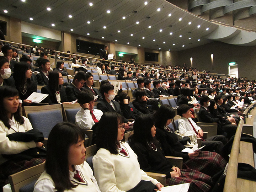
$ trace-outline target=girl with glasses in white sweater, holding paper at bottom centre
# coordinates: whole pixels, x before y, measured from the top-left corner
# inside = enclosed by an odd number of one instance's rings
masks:
[[[137,155],[124,142],[123,117],[106,112],[99,121],[94,175],[102,192],[153,192],[161,183],[140,169]]]

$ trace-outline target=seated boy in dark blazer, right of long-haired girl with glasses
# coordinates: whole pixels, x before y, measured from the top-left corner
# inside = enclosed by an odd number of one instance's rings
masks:
[[[75,101],[78,94],[84,90],[83,86],[85,84],[85,80],[85,73],[83,71],[78,71],[73,79],[73,82],[66,86],[66,95],[69,102]]]

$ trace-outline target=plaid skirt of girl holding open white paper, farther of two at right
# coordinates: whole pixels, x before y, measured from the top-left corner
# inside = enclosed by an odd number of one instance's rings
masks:
[[[228,162],[218,153],[201,151],[196,158],[183,162],[183,169],[193,169],[213,176],[221,171]]]

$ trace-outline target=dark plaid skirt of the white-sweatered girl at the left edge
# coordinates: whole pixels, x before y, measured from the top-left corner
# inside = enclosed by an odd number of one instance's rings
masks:
[[[9,183],[8,176],[43,163],[45,159],[33,158],[30,161],[5,161],[0,165],[0,191]]]

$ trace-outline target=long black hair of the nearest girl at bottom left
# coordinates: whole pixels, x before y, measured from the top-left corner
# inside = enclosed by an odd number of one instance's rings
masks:
[[[71,145],[84,138],[82,129],[69,122],[58,123],[51,130],[47,142],[45,169],[52,177],[57,192],[77,186],[69,179],[68,153]]]

